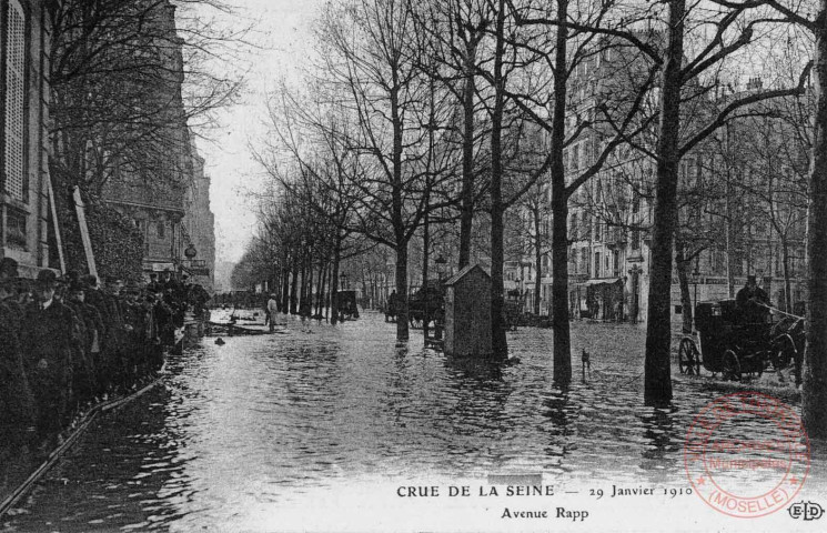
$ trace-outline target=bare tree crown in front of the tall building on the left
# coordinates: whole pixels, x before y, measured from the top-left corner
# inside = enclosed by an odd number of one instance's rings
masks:
[[[229,12],[219,1],[183,2],[208,3]],[[229,56],[244,31],[211,30],[195,16],[182,23],[169,0],[49,7],[54,175],[92,199],[119,170],[174,181],[184,163],[170,155],[189,150],[188,121],[231,102],[240,87],[205,58]]]

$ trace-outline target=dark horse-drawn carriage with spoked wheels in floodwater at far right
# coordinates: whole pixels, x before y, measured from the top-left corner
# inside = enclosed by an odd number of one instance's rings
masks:
[[[723,300],[695,306],[695,329],[697,341],[687,335],[678,345],[682,374],[699,374],[703,365],[724,380],[740,381],[744,374],[780,371],[795,362],[799,380],[804,319],[773,323],[766,309],[756,313]]]

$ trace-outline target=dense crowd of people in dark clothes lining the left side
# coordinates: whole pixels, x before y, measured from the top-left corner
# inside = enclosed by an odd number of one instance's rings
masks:
[[[42,270],[20,278],[0,261],[0,428],[24,428],[40,445],[94,402],[137,388],[177,344],[189,306],[209,294],[171,272],[149,283]]]

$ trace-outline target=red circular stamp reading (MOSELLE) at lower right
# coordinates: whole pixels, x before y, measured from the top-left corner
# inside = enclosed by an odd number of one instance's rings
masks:
[[[801,490],[810,465],[801,419],[758,392],[720,396],[695,416],[684,464],[692,486],[724,514],[755,519],[784,509]]]

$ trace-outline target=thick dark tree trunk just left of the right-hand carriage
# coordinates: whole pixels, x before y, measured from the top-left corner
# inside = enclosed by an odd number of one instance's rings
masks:
[[[672,240],[675,234],[678,137],[680,127],[680,62],[684,56],[684,13],[686,0],[669,2],[668,49],[660,92],[660,121],[657,140],[657,181],[652,229],[644,402],[663,405],[672,401],[670,292]]]

